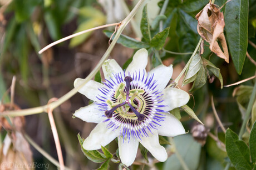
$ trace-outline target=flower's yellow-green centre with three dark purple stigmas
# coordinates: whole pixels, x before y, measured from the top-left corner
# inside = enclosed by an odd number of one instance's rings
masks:
[[[117,102],[107,100],[107,104],[112,108],[110,110],[106,110],[105,115],[110,119],[114,111],[117,110],[117,112],[123,116],[130,117],[131,119],[137,117],[138,121],[143,121],[145,119],[145,115],[140,114],[140,112],[144,109],[144,99],[141,97],[141,94],[144,93],[144,90],[130,90],[130,83],[132,81],[130,76],[126,76],[124,81],[126,83],[126,90],[124,83],[119,84],[115,91],[115,99]]]

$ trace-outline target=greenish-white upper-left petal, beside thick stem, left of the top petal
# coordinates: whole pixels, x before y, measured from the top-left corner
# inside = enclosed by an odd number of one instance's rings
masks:
[[[113,78],[113,74],[124,72],[120,67],[120,65],[117,64],[116,60],[114,59],[106,60],[102,65],[102,70],[103,70],[105,79],[107,80],[109,80],[110,78]]]

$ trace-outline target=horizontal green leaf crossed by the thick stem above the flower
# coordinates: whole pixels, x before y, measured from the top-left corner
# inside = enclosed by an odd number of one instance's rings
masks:
[[[104,30],[103,31],[107,37],[111,37],[111,35],[114,33],[111,30]],[[115,38],[115,34],[112,36],[112,40]],[[124,47],[132,48],[132,49],[140,49],[140,48],[149,48],[149,44],[146,44],[144,42],[140,42],[134,38],[128,37],[126,35],[120,35],[119,39],[117,40],[117,43],[124,45]]]

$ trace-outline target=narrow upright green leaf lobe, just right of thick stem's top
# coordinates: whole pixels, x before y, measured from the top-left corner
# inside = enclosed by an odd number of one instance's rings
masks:
[[[141,30],[143,38],[146,40],[146,42],[150,42],[151,33],[150,33],[149,18],[147,17],[147,4],[145,5],[145,7],[143,8],[143,11],[142,11],[140,30]]]

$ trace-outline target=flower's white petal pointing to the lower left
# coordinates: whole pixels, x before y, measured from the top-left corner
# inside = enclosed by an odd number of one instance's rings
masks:
[[[90,135],[83,141],[83,148],[87,151],[99,150],[101,146],[106,146],[119,135],[119,130],[112,131],[107,128],[108,122],[101,122]]]

